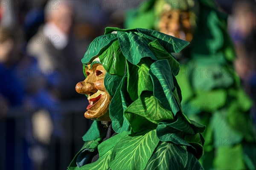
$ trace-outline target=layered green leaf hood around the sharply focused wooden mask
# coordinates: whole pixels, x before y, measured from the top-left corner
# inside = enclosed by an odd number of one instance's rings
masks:
[[[113,130],[136,133],[156,129],[160,141],[185,145],[201,157],[204,139],[199,133],[205,127],[190,121],[181,110],[181,91],[175,78],[179,63],[172,54],[189,42],[143,28],[105,30],[105,35],[90,43],[81,61],[86,65],[99,57],[107,71],[104,84],[112,97],[109,114]],[[94,123],[83,139],[100,136]]]

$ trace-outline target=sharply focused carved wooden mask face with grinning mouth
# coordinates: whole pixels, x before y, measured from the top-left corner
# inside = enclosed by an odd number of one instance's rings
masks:
[[[76,84],[76,91],[79,94],[87,94],[89,105],[84,116],[87,119],[111,121],[108,108],[111,96],[104,85],[106,71],[99,61],[99,57],[85,67],[86,79]]]

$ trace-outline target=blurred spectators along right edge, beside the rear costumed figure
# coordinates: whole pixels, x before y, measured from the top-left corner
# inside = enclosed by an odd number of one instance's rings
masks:
[[[229,20],[229,31],[236,48],[236,72],[244,90],[253,99],[252,116],[256,122],[256,5],[255,1],[236,1]]]

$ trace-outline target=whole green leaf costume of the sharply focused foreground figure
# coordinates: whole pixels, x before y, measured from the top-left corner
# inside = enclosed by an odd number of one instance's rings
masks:
[[[180,107],[172,53],[188,42],[149,29],[106,28],[87,48],[84,67],[99,57],[107,71],[104,84],[113,97],[109,115],[118,133],[94,121],[69,170],[200,170],[205,127],[189,120]],[[86,74],[85,74],[86,77]],[[88,162],[98,150],[99,159]]]

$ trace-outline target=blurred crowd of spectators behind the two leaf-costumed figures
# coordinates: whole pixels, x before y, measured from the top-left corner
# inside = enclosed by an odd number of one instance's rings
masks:
[[[92,121],[81,58],[105,27],[124,28],[147,0],[0,0],[0,170],[63,170]],[[228,14],[236,72],[253,100],[256,122],[256,6],[217,0]]]

